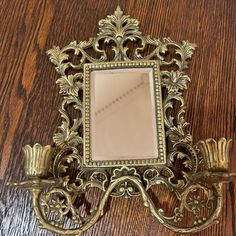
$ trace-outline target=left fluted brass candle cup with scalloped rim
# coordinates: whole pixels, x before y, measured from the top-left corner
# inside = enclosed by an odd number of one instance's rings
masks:
[[[36,143],[33,147],[23,147],[25,155],[25,174],[27,177],[47,177],[52,160],[52,147]]]

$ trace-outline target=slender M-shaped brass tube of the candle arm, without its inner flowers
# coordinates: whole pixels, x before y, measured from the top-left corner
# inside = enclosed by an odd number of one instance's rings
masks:
[[[141,194],[142,200],[144,202],[144,206],[149,208],[152,215],[165,227],[168,229],[171,229],[175,232],[181,232],[181,233],[189,233],[189,232],[197,232],[200,230],[203,230],[209,225],[215,223],[216,219],[218,218],[221,208],[222,208],[222,184],[214,184],[212,190],[214,191],[215,195],[215,201],[214,201],[214,210],[210,217],[202,224],[191,226],[191,227],[181,227],[177,226],[171,223],[171,220],[173,217],[166,217],[163,215],[162,209],[157,209],[153,201],[151,200],[150,196],[146,192],[145,188],[143,187],[141,181],[139,178],[135,176],[123,176],[116,180],[114,180],[109,187],[107,188],[106,192],[104,193],[98,208],[96,209],[96,212],[93,214],[93,216],[87,221],[85,224],[83,224],[80,228],[76,229],[64,229],[59,226],[55,226],[50,224],[50,222],[45,218],[45,214],[42,211],[42,208],[40,206],[40,194],[42,193],[43,189],[39,188],[33,188],[31,189],[32,197],[33,197],[33,207],[36,214],[37,219],[39,220],[41,227],[47,230],[50,230],[52,232],[62,234],[62,235],[80,235],[82,232],[88,230],[91,226],[93,226],[100,217],[104,214],[104,207],[108,201],[109,196],[111,195],[112,191],[117,187],[118,184],[124,181],[132,182],[138,189]],[[188,189],[185,190],[185,192],[182,194],[182,201],[180,208],[184,207],[184,204],[186,204],[186,197],[194,188],[203,188],[200,185],[191,185]],[[56,191],[60,191],[64,197],[67,198],[68,202],[72,204],[71,195],[64,191],[63,189],[56,189]]]

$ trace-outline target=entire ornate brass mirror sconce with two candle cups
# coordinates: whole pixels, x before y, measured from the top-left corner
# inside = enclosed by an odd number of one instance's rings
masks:
[[[96,37],[48,50],[59,74],[62,124],[53,146],[23,148],[27,179],[10,183],[32,193],[40,227],[80,235],[105,213],[110,196],[141,197],[175,232],[217,222],[222,184],[235,174],[228,170],[230,140],[194,144],[184,119],[185,70],[195,47],[143,36],[139,22],[117,7],[99,21]],[[151,199],[154,185],[175,194],[173,212]],[[92,188],[103,195],[85,214],[84,195]]]

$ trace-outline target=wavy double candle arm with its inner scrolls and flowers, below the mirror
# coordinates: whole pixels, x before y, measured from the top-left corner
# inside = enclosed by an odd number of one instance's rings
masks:
[[[130,169],[129,171],[132,172]],[[83,216],[81,206],[75,207],[75,195],[66,190],[63,180],[29,180],[18,184],[29,188],[33,196],[33,207],[39,220],[40,227],[48,229],[60,235],[80,235],[83,231],[94,225],[104,215],[104,208],[109,196],[121,183],[132,183],[137,192],[140,193],[145,207],[149,208],[152,215],[165,227],[181,233],[202,230],[217,222],[222,207],[222,184],[216,183],[212,186],[192,184],[180,196],[179,207],[176,207],[173,215],[166,215],[162,208],[157,208],[151,200],[142,181],[138,176],[121,176],[110,182],[102,196],[98,206],[86,216]],[[90,187],[94,187],[91,185]],[[203,194],[197,193],[198,190]],[[130,191],[125,188],[125,191]],[[132,190],[131,190],[132,191]],[[76,193],[79,194],[78,192]],[[81,197],[81,195],[79,194]],[[208,210],[206,214],[206,210]],[[186,212],[192,213],[194,220],[187,226],[179,223],[186,217]],[[69,215],[72,221],[71,228],[65,228],[63,222]],[[189,217],[189,214],[188,214]],[[190,220],[189,220],[190,221]]]

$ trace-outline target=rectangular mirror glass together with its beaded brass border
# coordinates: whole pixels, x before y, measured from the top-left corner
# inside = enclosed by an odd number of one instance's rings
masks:
[[[165,163],[159,65],[85,64],[85,163]]]

